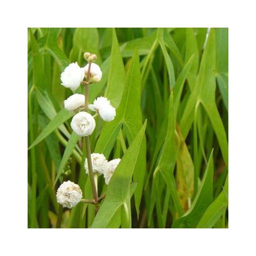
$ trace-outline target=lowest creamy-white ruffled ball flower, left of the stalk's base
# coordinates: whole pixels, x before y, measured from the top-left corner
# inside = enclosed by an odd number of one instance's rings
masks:
[[[81,201],[82,191],[74,182],[64,181],[58,188],[56,197],[59,204],[71,209]]]

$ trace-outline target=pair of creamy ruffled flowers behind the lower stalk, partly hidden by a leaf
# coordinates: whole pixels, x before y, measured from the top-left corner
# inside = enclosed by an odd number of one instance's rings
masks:
[[[109,183],[109,180],[120,161],[121,159],[117,158],[108,162],[103,154],[91,154],[92,171],[98,176],[103,174],[106,184]],[[89,174],[87,158],[85,159],[84,168],[86,174]]]

